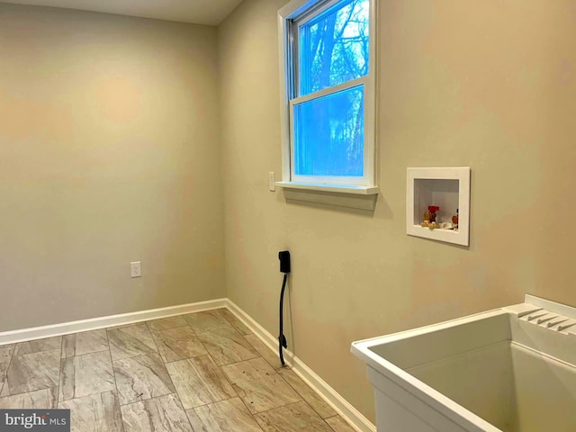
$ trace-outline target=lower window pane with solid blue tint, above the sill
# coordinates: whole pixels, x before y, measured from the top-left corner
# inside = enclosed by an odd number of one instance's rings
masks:
[[[294,105],[294,174],[364,175],[364,85]]]

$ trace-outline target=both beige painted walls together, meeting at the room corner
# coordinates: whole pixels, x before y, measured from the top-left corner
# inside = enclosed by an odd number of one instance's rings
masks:
[[[218,34],[0,4],[0,331],[228,295],[275,334],[289,248],[289,346],[374,419],[352,340],[576,305],[572,0],[378,2],[374,213],[267,191],[284,3]],[[471,247],[406,236],[407,166],[472,166]]]

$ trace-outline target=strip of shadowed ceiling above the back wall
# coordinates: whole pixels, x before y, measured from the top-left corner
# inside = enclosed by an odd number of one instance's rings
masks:
[[[3,3],[64,7],[81,11],[103,12],[218,25],[242,0],[0,0]]]

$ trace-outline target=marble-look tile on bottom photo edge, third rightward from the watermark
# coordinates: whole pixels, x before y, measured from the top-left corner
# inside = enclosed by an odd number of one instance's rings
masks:
[[[187,410],[194,432],[262,432],[256,419],[238,398]]]

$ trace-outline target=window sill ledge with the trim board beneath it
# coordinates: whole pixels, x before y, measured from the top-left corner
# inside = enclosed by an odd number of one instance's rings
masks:
[[[286,202],[313,203],[374,211],[378,187],[276,182],[284,189]]]

